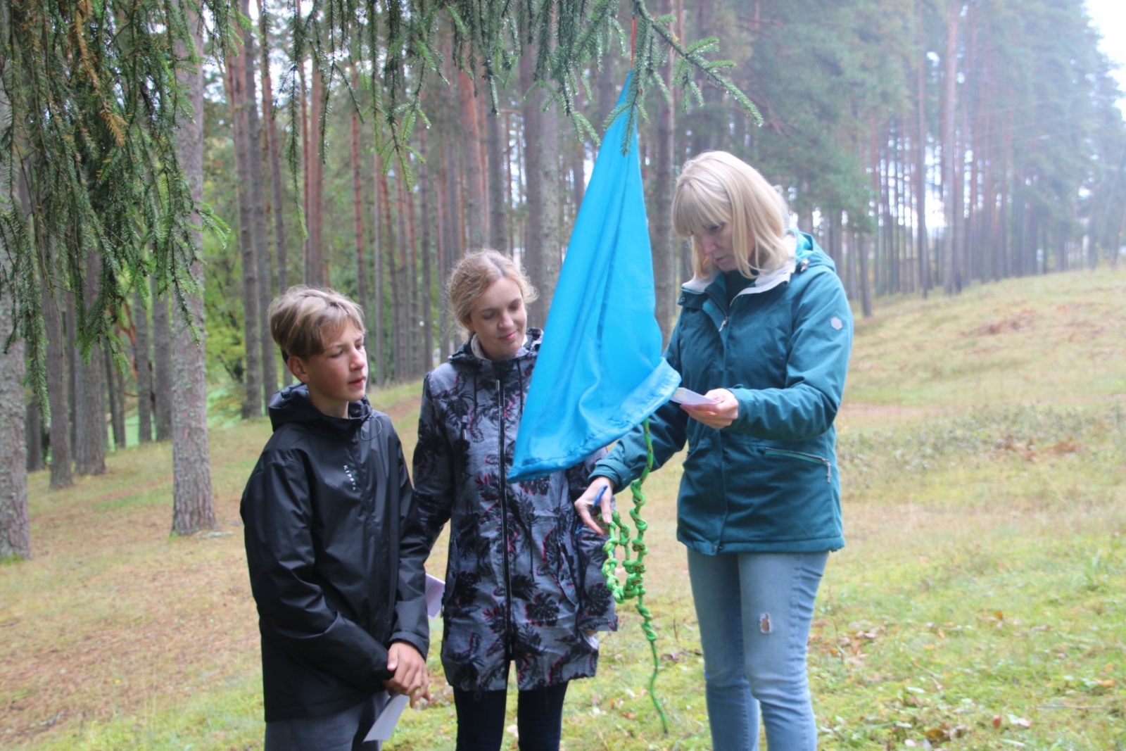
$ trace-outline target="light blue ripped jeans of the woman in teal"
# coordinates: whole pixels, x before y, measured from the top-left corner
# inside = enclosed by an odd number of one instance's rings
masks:
[[[816,751],[805,651],[829,553],[688,551],[714,751]]]

